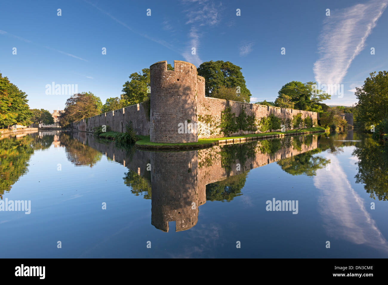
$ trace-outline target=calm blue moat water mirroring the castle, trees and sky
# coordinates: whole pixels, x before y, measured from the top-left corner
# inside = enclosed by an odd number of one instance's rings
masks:
[[[31,201],[0,211],[2,258],[388,257],[388,147],[370,134],[158,152],[36,131],[0,160],[1,201]]]

